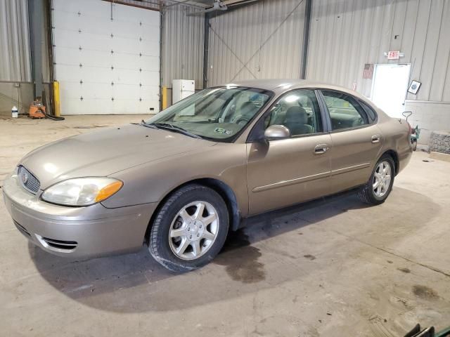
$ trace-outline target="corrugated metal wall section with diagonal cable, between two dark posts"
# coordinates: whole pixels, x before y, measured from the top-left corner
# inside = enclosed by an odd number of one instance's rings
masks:
[[[261,0],[211,18],[208,86],[299,77],[303,22],[303,0]]]

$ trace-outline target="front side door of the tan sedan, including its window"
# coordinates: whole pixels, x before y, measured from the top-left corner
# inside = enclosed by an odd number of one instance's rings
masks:
[[[315,91],[285,93],[262,119],[259,127],[283,125],[291,136],[247,144],[249,214],[328,194],[332,143]]]

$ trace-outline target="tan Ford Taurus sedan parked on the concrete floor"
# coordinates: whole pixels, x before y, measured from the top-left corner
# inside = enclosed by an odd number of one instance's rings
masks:
[[[140,124],[39,147],[4,181],[13,221],[59,256],[148,245],[192,270],[245,218],[344,190],[381,204],[412,149],[404,119],[301,80],[207,88]]]

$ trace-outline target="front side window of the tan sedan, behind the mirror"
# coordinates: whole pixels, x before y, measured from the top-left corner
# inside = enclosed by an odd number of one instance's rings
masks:
[[[291,136],[323,131],[321,112],[316,94],[311,90],[290,91],[275,103],[264,119],[264,126],[283,125]]]

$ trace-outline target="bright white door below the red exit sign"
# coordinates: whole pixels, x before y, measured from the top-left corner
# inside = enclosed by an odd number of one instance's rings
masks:
[[[375,65],[372,101],[390,117],[404,118],[411,65]]]

